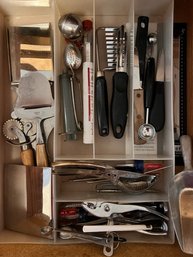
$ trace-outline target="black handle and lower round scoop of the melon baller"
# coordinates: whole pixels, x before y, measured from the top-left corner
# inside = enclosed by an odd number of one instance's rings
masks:
[[[149,124],[149,111],[152,106],[154,97],[154,82],[155,82],[155,59],[153,57],[148,58],[145,73],[144,83],[144,103],[146,110],[145,123],[139,127],[138,136],[146,141],[152,140],[156,136],[155,128]]]

